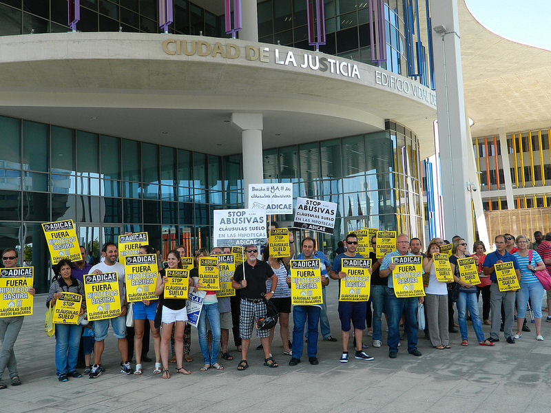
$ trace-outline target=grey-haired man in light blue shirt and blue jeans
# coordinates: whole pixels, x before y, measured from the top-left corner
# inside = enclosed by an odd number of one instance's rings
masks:
[[[388,277],[388,284],[384,288],[384,308],[386,308],[386,320],[388,324],[388,357],[395,359],[398,353],[400,341],[399,322],[402,313],[405,314],[404,330],[408,335],[408,352],[419,357],[421,352],[417,350],[417,304],[424,301],[424,297],[396,297],[392,272],[396,264],[392,262],[393,257],[399,255],[413,255],[409,251],[409,238],[406,234],[398,235],[396,238],[396,250],[384,256],[379,276]]]

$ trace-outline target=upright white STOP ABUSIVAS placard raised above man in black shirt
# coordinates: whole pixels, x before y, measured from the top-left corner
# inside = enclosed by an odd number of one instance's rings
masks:
[[[264,209],[214,211],[214,245],[264,245],[268,240]]]

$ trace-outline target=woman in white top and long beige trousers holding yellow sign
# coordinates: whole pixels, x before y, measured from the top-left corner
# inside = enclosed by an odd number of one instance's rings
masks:
[[[448,286],[446,282],[437,279],[434,255],[439,253],[439,243],[430,242],[423,258],[423,271],[430,274],[428,286],[425,287],[425,310],[430,343],[434,348],[444,350],[444,348],[450,348]]]

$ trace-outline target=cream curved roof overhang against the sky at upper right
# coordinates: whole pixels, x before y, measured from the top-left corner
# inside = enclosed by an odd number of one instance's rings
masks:
[[[465,105],[475,121],[472,136],[549,127],[551,51],[504,39],[481,25],[464,0],[458,7]]]

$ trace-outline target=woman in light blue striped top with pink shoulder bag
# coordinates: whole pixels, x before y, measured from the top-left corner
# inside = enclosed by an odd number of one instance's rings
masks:
[[[517,334],[514,339],[520,339],[522,337],[522,325],[526,317],[526,306],[528,306],[528,299],[532,303],[532,310],[534,311],[534,324],[536,325],[536,339],[543,341],[541,335],[541,300],[543,299],[543,293],[545,290],[539,282],[539,279],[534,275],[534,271],[542,271],[545,269],[545,264],[539,254],[528,249],[528,240],[524,235],[517,237],[517,247],[519,251],[513,253],[514,257],[517,257],[519,262],[519,269],[521,273],[520,285],[521,289],[517,291]]]

